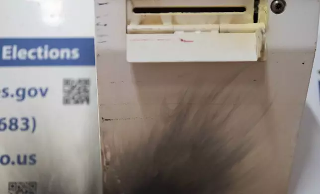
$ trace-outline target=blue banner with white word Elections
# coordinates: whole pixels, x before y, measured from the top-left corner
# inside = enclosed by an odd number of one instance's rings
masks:
[[[93,38],[0,39],[0,66],[95,65]]]

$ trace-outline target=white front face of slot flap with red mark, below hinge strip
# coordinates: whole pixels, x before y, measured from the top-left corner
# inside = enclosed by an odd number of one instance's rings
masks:
[[[127,34],[128,62],[257,61],[256,33]]]

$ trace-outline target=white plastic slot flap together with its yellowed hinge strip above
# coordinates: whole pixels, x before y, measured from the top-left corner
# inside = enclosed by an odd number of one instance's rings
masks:
[[[188,32],[190,31],[190,32]],[[128,62],[257,61],[263,23],[128,25]]]

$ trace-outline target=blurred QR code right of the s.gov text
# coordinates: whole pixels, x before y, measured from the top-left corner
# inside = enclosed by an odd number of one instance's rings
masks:
[[[63,104],[89,104],[90,79],[64,79]]]

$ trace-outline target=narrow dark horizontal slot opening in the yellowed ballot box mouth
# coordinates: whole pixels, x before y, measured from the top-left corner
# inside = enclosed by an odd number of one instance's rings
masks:
[[[244,6],[235,7],[134,7],[134,13],[226,13],[245,12]]]

